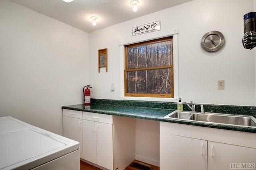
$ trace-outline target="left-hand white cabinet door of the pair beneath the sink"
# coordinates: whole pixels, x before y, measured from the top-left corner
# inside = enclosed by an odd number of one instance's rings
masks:
[[[160,133],[161,170],[206,170],[207,141]]]

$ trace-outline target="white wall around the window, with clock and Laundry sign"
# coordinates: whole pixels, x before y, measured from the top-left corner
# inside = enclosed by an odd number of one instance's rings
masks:
[[[255,106],[255,49],[242,46],[243,16],[254,11],[254,0],[194,0],[147,16],[89,33],[89,82],[92,98],[119,99],[119,43],[148,39],[178,29],[180,97],[203,104]],[[132,37],[132,27],[161,21],[161,31]],[[212,30],[224,34],[222,49],[202,50],[202,36]],[[108,72],[98,73],[98,49],[108,48]],[[225,80],[225,89],[217,89]],[[115,83],[114,92],[110,84]]]

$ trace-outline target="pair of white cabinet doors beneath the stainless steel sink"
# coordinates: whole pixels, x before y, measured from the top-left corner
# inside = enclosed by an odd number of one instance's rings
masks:
[[[256,164],[254,148],[165,133],[160,134],[160,141],[162,170],[167,170],[168,167],[174,170],[227,170],[254,168]]]

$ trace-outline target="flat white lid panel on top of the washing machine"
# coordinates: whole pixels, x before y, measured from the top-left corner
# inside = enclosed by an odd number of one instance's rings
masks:
[[[45,156],[48,152],[65,146],[64,143],[32,129],[22,129],[0,135],[0,169],[16,163]]]

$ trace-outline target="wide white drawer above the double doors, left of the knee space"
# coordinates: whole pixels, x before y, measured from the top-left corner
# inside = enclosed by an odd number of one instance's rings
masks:
[[[100,113],[91,113],[91,112],[83,111],[83,119],[113,124],[113,116],[112,115],[105,115],[105,114],[100,114]]]

